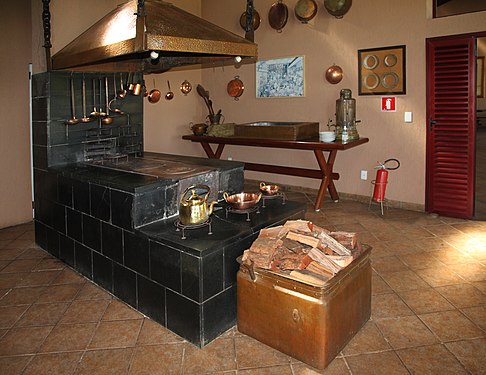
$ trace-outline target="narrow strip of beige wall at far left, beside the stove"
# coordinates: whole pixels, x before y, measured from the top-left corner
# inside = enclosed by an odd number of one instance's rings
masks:
[[[0,14],[0,72],[3,86],[0,93],[0,228],[3,228],[32,219],[29,146],[30,0],[2,1]]]

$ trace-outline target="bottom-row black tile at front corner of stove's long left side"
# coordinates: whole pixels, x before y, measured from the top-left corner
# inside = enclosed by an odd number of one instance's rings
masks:
[[[201,347],[201,306],[166,290],[167,328]]]

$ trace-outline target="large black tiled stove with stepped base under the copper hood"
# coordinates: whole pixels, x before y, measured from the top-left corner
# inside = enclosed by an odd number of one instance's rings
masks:
[[[194,183],[210,185],[211,199],[221,198],[223,191],[240,192],[243,164],[143,152],[130,155],[125,163],[79,160],[81,129],[65,129],[64,143],[50,143],[59,138],[53,135],[62,133],[59,123],[69,113],[61,110],[68,92],[57,88],[49,94],[49,88],[63,80],[62,87],[69,87],[66,73],[34,76],[37,244],[203,347],[236,322],[236,258],[261,228],[302,218],[305,205],[275,200],[251,214],[250,222],[246,215],[227,216],[217,205],[211,215],[212,234],[207,227],[189,229],[183,239],[175,225],[181,192]],[[61,108],[56,100],[63,101]],[[134,118],[142,118],[139,106],[131,103],[127,108],[136,112]],[[142,129],[140,122],[139,134]]]

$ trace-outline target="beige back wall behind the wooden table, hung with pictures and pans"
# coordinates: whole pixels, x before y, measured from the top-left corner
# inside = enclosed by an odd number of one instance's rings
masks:
[[[336,170],[341,179],[338,191],[368,196],[370,178],[360,180],[360,170],[368,170],[373,178],[377,161],[398,158],[402,166],[391,172],[387,197],[391,200],[424,203],[425,191],[425,39],[427,37],[485,30],[486,12],[429,19],[429,9],[423,0],[353,2],[343,19],[327,14],[320,6],[317,17],[304,25],[293,15],[297,0],[287,0],[289,20],[282,33],[268,25],[268,9],[273,0],[257,0],[255,7],[262,15],[262,25],[256,31],[259,58],[269,59],[305,55],[306,96],[299,99],[256,99],[255,69],[215,67],[203,72],[203,81],[211,91],[213,102],[223,108],[227,121],[255,120],[319,121],[321,126],[334,118],[335,100],[342,88],[350,88],[357,101],[358,131],[370,138],[364,146],[338,154]],[[243,35],[238,20],[245,1],[205,0],[203,16],[214,23]],[[380,112],[380,98],[358,96],[357,50],[405,44],[407,47],[407,94],[397,96],[396,113]],[[331,85],[323,79],[324,71],[333,63],[344,69],[344,79]],[[226,94],[226,84],[238,74],[245,83],[245,93],[239,101]],[[404,112],[413,112],[413,123],[405,124]],[[195,147],[193,145],[188,147]],[[268,161],[302,167],[315,167],[311,153],[302,151],[259,150],[227,147],[223,157],[246,161]],[[261,173],[247,177],[272,180],[306,187],[318,187],[318,181]]]

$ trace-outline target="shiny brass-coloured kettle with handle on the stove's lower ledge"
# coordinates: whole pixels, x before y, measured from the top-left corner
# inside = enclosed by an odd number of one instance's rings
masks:
[[[202,191],[202,195],[198,195],[197,191]],[[208,204],[209,186],[207,185],[192,185],[189,186],[181,195],[179,205],[179,220],[183,225],[202,224],[209,219],[213,213],[214,204]]]

